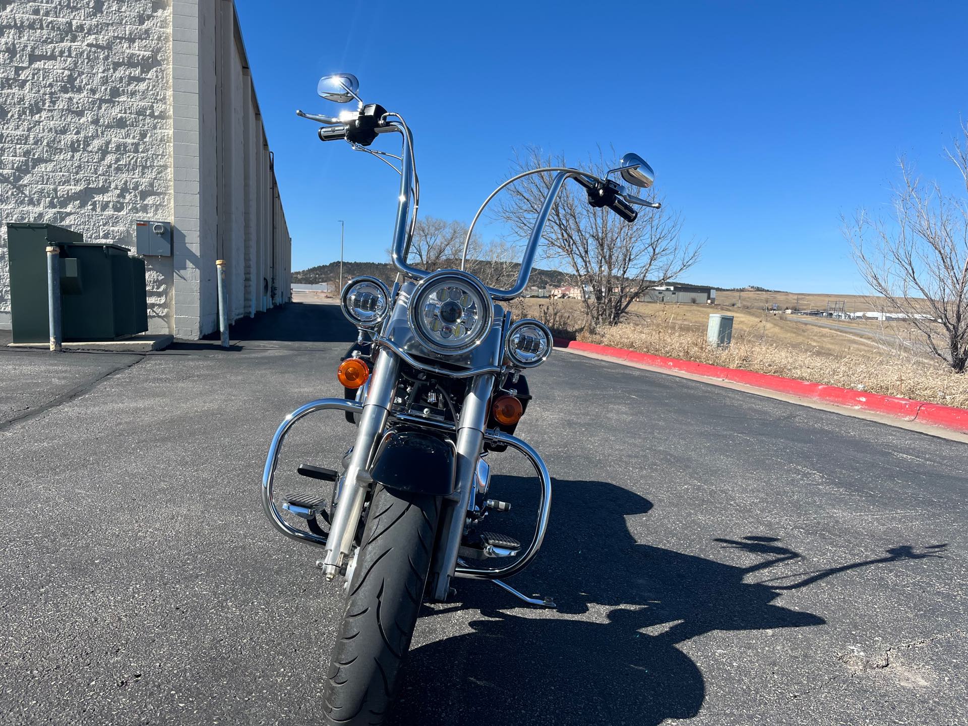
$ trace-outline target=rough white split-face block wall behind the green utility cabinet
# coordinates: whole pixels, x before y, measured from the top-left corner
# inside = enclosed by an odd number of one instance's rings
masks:
[[[172,218],[171,14],[164,0],[0,0],[0,324],[8,222],[135,246]],[[170,257],[148,257],[148,315],[167,332]]]

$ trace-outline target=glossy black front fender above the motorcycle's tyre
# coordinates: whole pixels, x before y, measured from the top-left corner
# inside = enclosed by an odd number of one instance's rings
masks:
[[[457,486],[453,444],[422,431],[388,431],[370,469],[386,489],[447,497]]]

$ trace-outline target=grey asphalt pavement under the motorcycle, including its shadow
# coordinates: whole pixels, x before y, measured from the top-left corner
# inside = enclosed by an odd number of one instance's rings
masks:
[[[353,333],[293,303],[229,350],[0,348],[0,723],[320,722],[342,593],[259,479]],[[555,496],[510,583],[560,608],[458,581],[397,723],[968,723],[968,446],[565,352],[529,381]],[[351,434],[307,419],[281,486]],[[494,459],[489,529],[527,532]]]

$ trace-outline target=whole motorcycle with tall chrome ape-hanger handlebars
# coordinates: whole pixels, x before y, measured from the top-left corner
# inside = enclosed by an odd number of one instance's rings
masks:
[[[526,372],[543,363],[554,344],[546,325],[513,320],[500,303],[528,286],[545,223],[567,180],[585,188],[590,205],[607,207],[629,223],[637,206],[659,206],[611,178],[650,187],[652,169],[635,154],[624,155],[604,178],[567,166],[528,170],[499,185],[477,210],[460,269],[418,269],[408,263],[420,196],[413,135],[401,114],[364,103],[358,91],[355,76],[323,76],[318,95],[355,102],[356,109],[336,116],[296,113],[320,124],[320,140],[347,141],[400,174],[391,247],[399,274],[392,288],[375,277],[354,278],[343,288],[343,313],[358,330],[337,369],[345,398],[319,399],[288,414],[269,446],[262,476],[262,505],[272,525],[322,548],[317,564],[325,579],[344,580],[346,608],[324,698],[327,723],[340,724],[383,721],[418,611],[425,601],[447,600],[454,578],[490,580],[529,605],[555,607],[550,599],[528,597],[504,582],[534,560],[548,527],[551,475],[538,453],[514,434],[530,400]],[[384,134],[401,136],[400,155],[370,148]],[[486,286],[466,271],[473,227],[502,189],[536,173],[555,176],[517,281],[508,289]],[[342,470],[300,465],[298,473],[319,487],[328,482],[328,493],[310,489],[287,494],[277,504],[274,480],[283,441],[293,424],[324,410],[345,412],[357,427]],[[487,461],[491,452],[507,449],[529,461],[540,484],[526,547],[481,528],[489,513],[510,508],[493,498]],[[290,523],[284,511],[296,519]],[[490,566],[487,560],[504,563]]]

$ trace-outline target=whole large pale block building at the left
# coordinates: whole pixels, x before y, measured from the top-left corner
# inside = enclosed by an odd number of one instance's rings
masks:
[[[289,298],[291,239],[232,0],[0,3],[0,327],[6,223],[68,227],[147,256],[149,332],[198,338]]]

